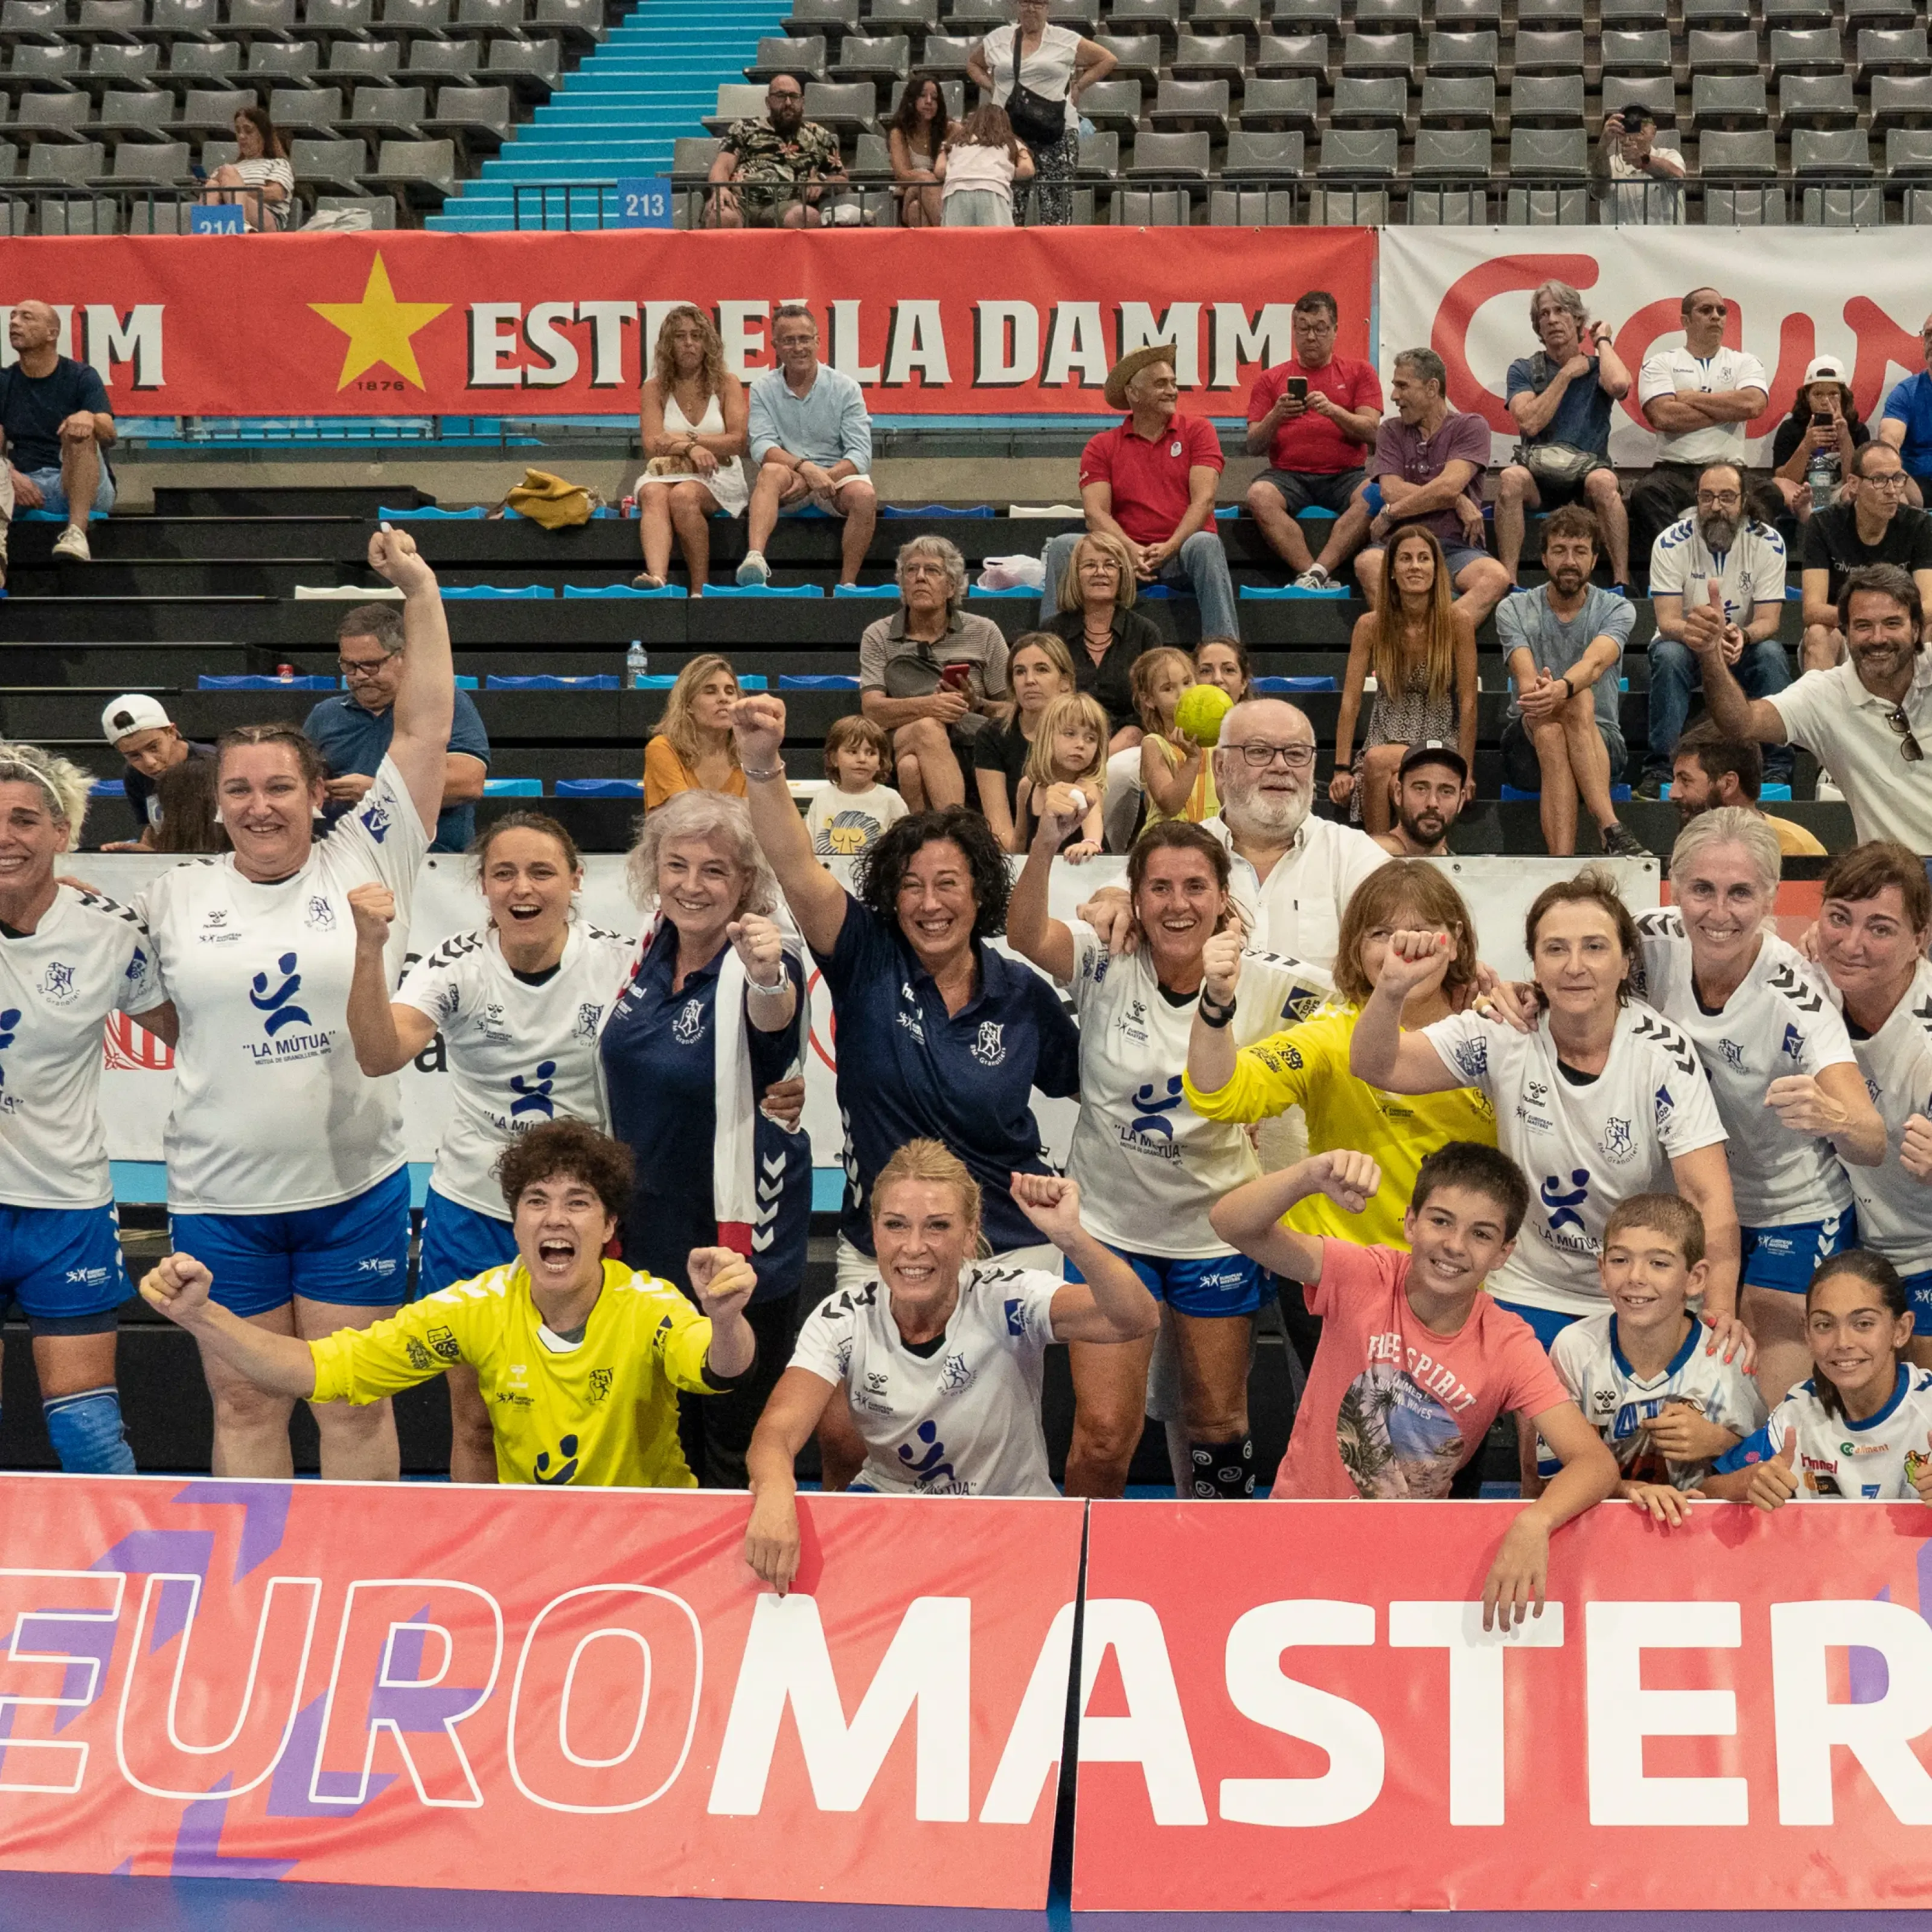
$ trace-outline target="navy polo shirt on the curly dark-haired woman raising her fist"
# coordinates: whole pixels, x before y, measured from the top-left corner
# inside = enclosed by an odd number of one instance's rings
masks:
[[[856,898],[831,958],[819,958],[838,1024],[838,1111],[846,1122],[840,1231],[871,1254],[869,1190],[908,1140],[941,1140],[985,1192],[995,1254],[1034,1248],[1039,1229],[1012,1175],[1047,1175],[1032,1094],[1080,1092],[1080,1030],[1032,966],[974,945],[980,985],[956,1014],[895,923]]]

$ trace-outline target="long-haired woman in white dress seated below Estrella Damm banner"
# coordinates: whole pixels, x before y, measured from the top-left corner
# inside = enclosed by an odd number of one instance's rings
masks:
[[[678,533],[692,595],[703,597],[711,570],[707,518],[744,516],[752,489],[744,479],[744,383],[724,367],[724,344],[701,309],[672,309],[657,330],[651,373],[638,410],[643,454],[638,477],[643,514],[641,591],[663,589],[670,574],[670,533]]]

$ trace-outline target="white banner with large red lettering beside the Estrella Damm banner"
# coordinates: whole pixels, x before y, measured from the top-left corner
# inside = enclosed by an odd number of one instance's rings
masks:
[[[1633,383],[1642,359],[1683,336],[1681,301],[1718,288],[1729,301],[1723,340],[1756,355],[1770,408],[1752,423],[1756,464],[1791,410],[1814,355],[1851,369],[1859,415],[1874,421],[1893,383],[1924,367],[1918,328],[1932,305],[1924,257],[1880,236],[1820,228],[1383,228],[1379,342],[1387,384],[1397,352],[1432,348],[1449,367],[1449,400],[1490,419],[1495,462],[1517,429],[1503,383],[1536,352],[1530,292],[1569,282],[1592,321],[1607,321]],[[1613,415],[1609,454],[1642,466],[1654,437],[1636,392]]]

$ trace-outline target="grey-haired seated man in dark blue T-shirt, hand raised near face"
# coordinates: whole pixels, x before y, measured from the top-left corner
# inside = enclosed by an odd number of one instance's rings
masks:
[[[1542,348],[1513,361],[1503,383],[1522,442],[1495,479],[1495,554],[1515,583],[1524,506],[1559,510],[1582,500],[1609,551],[1609,580],[1623,589],[1631,522],[1609,466],[1609,406],[1631,394],[1631,371],[1611,348],[1609,323],[1592,323],[1569,282],[1544,282],[1530,296],[1530,327]]]

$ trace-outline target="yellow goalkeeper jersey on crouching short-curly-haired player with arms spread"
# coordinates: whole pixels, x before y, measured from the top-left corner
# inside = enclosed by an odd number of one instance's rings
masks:
[[[379,1403],[452,1362],[477,1372],[498,1482],[696,1490],[678,1447],[678,1389],[705,1372],[711,1321],[668,1281],[605,1262],[583,1341],[543,1325],[522,1262],[458,1281],[386,1321],[311,1341],[315,1401]]]

